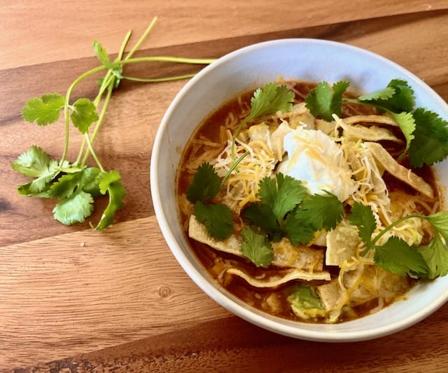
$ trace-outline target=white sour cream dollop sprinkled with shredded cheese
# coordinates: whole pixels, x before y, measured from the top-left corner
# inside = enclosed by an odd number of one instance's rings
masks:
[[[328,191],[341,202],[349,198],[354,187],[349,165],[328,135],[297,127],[283,138],[283,147],[288,158],[279,164],[277,172],[301,180],[311,194]]]

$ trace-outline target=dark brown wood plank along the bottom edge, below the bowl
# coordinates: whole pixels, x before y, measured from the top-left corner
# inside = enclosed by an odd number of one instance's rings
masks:
[[[358,343],[328,344],[283,337],[235,316],[186,325],[142,341],[106,348],[43,365],[41,369],[107,369],[134,372],[446,372],[440,330],[448,327],[435,313],[414,327]],[[418,348],[415,348],[418,346]],[[391,353],[393,351],[393,353]],[[360,361],[358,356],[362,356]],[[34,367],[36,369],[36,367]]]

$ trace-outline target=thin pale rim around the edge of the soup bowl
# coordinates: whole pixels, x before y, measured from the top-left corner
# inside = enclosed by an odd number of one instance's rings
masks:
[[[365,55],[369,58],[374,58],[375,60],[379,60],[379,62],[385,63],[386,65],[392,66],[394,69],[398,69],[400,72],[404,73],[409,78],[414,79],[416,83],[419,84],[419,87],[425,91],[426,94],[431,96],[431,99],[436,100],[437,105],[442,105],[447,107],[448,105],[440,95],[435,93],[435,91],[430,88],[426,83],[424,83],[421,79],[419,79],[412,72],[409,72],[404,67],[398,65],[397,63],[388,60],[386,57],[378,55],[377,53],[373,53],[370,50],[365,50],[363,48],[352,46],[346,43],[341,43],[339,41],[328,41],[324,39],[309,39],[309,38],[289,38],[289,39],[276,39],[271,41],[262,41],[259,43],[254,43],[249,46],[244,46],[237,50],[233,50],[232,52],[219,57],[217,60],[212,62],[210,65],[204,67],[200,72],[198,72],[192,79],[190,79],[182,88],[179,90],[179,93],[174,97],[174,100],[169,104],[167,111],[162,117],[162,121],[160,122],[160,126],[155,135],[155,140],[153,142],[153,149],[151,153],[151,162],[150,162],[150,186],[151,186],[151,196],[153,200],[153,207],[155,210],[155,215],[158,219],[158,224],[160,226],[160,230],[162,231],[162,235],[164,236],[169,249],[172,254],[179,262],[184,271],[188,274],[188,276],[193,280],[193,282],[200,287],[211,299],[214,299],[218,304],[226,308],[231,313],[243,318],[249,323],[253,323],[258,325],[259,327],[264,328],[265,330],[269,330],[272,332],[276,332],[278,334],[283,334],[288,337],[294,337],[298,339],[304,339],[309,341],[328,341],[328,342],[348,342],[348,341],[363,341],[367,339],[375,339],[379,337],[384,337],[388,334],[392,334],[395,332],[399,332],[400,330],[404,330],[407,327],[410,327],[419,321],[423,320],[431,313],[435,312],[438,308],[443,306],[448,301],[448,289],[446,289],[442,294],[440,294],[434,301],[430,303],[429,306],[422,308],[418,313],[414,313],[414,315],[409,316],[407,318],[402,318],[398,322],[392,323],[390,325],[384,325],[382,327],[377,327],[375,329],[370,330],[358,330],[358,331],[340,331],[332,332],[328,330],[309,330],[302,329],[300,327],[292,327],[292,325],[288,325],[294,323],[295,325],[301,325],[300,322],[288,322],[288,320],[276,318],[268,315],[267,313],[262,313],[262,311],[258,311],[255,308],[248,306],[243,306],[241,301],[238,299],[232,299],[230,293],[227,296],[223,296],[223,290],[218,289],[219,285],[216,286],[211,283],[209,280],[204,280],[204,273],[197,269],[191,262],[190,259],[185,255],[179,243],[176,242],[176,238],[171,231],[170,222],[167,220],[165,216],[165,212],[162,205],[161,200],[161,191],[158,184],[158,162],[157,156],[160,153],[160,147],[162,146],[162,137],[164,136],[165,131],[167,130],[167,126],[169,123],[169,118],[173,115],[177,104],[180,100],[182,100],[183,96],[187,95],[189,90],[195,86],[197,81],[203,79],[204,76],[211,74],[214,69],[218,68],[220,65],[227,63],[238,55],[251,53],[253,50],[257,50],[258,48],[266,48],[273,45],[279,45],[281,43],[316,43],[321,45],[330,45],[336,46],[337,48],[342,48],[346,50],[351,50],[360,55]],[[199,259],[198,259],[199,262]],[[208,273],[207,273],[208,274]],[[248,311],[248,309],[250,311]],[[365,316],[368,317],[368,316]],[[281,320],[281,322],[280,322]],[[346,323],[351,323],[346,322]],[[339,325],[343,325],[346,323],[342,323]],[[307,324],[307,323],[304,323]],[[321,325],[321,324],[316,324]]]

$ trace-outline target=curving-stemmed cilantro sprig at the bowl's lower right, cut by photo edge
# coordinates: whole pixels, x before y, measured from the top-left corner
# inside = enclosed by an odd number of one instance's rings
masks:
[[[412,247],[395,236],[388,238],[384,245],[376,245],[379,238],[394,226],[406,219],[415,217],[425,219],[435,231],[435,236],[428,245]],[[354,203],[349,221],[358,227],[358,234],[365,243],[365,250],[362,255],[374,250],[375,264],[386,269],[386,271],[398,273],[402,276],[413,273],[415,276],[422,278],[436,278],[448,274],[448,249],[445,246],[448,242],[448,212],[437,212],[428,216],[412,214],[401,217],[386,226],[374,238],[372,238],[372,234],[377,229],[377,222],[369,205]]]

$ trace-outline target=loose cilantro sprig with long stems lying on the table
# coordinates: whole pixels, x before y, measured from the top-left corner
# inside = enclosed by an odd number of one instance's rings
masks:
[[[133,57],[141,43],[146,39],[153,29],[157,18],[154,18],[129,53],[125,55],[127,43],[132,34],[127,32],[117,57],[112,60],[106,48],[98,41],[93,42],[95,55],[101,65],[81,74],[73,81],[66,90],[65,95],[59,93],[48,93],[41,97],[34,97],[27,101],[22,109],[22,117],[29,123],[38,126],[48,126],[59,120],[62,114],[64,121],[64,149],[59,160],[51,158],[41,147],[32,145],[29,150],[18,156],[11,163],[14,170],[22,175],[31,177],[32,180],[18,186],[18,193],[23,196],[41,198],[55,198],[58,200],[53,215],[55,219],[63,224],[75,224],[83,222],[92,214],[94,198],[97,196],[109,196],[101,219],[94,226],[102,230],[113,222],[116,211],[123,207],[125,187],[120,181],[120,173],[116,170],[106,170],[94,150],[94,140],[99,129],[104,123],[106,109],[111,101],[114,89],[118,88],[120,81],[142,81],[157,82],[170,81],[174,79],[185,79],[194,74],[182,76],[167,76],[162,78],[140,78],[126,76],[124,69],[126,65],[144,62],[176,62],[188,64],[209,64],[211,59],[191,59],[183,57]],[[104,72],[99,79],[99,91],[94,100],[81,97],[72,102],[73,90],[85,79],[94,74]],[[78,152],[78,158],[73,163],[67,161],[66,156],[70,144],[70,128],[74,126],[83,136],[83,143]],[[96,167],[87,166],[87,158],[94,158]]]

